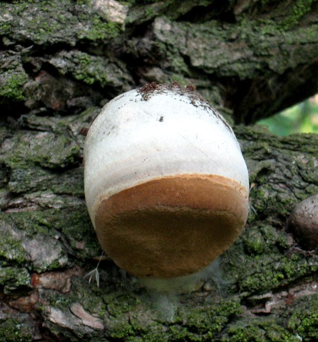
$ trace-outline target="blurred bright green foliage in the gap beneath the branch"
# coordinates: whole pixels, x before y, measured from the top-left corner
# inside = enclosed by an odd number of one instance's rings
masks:
[[[271,118],[257,121],[257,124],[266,125],[272,133],[280,136],[318,133],[318,94]]]

